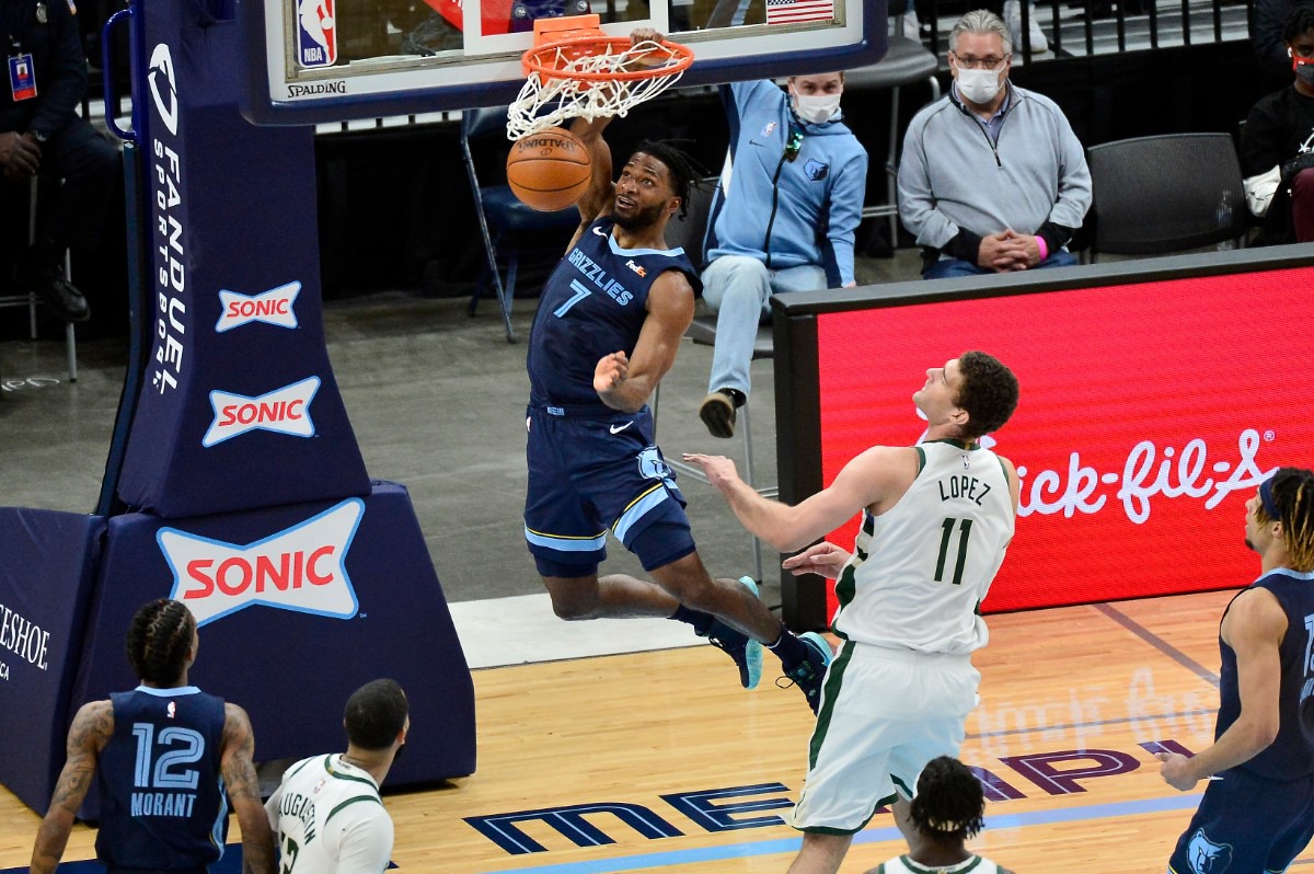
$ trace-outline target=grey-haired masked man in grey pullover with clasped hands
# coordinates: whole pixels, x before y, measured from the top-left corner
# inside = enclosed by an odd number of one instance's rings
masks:
[[[949,93],[918,112],[899,163],[899,217],[924,279],[1066,267],[1091,206],[1085,151],[1053,100],[1008,80],[1008,28],[968,12],[949,34]]]

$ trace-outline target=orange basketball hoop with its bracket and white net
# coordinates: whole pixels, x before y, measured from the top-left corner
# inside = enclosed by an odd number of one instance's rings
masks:
[[[520,139],[569,118],[624,117],[671,87],[694,63],[678,42],[641,42],[598,29],[598,16],[540,18],[522,55],[527,80],[507,109],[506,134]]]

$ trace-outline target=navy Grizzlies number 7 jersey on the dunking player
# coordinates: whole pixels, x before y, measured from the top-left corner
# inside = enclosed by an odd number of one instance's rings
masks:
[[[593,372],[604,355],[633,354],[657,277],[681,271],[703,288],[683,248],[622,248],[612,226],[610,216],[589,225],[543,287],[528,357],[536,406],[598,406]]]

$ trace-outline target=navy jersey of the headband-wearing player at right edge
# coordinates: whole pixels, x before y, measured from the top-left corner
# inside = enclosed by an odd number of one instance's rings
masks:
[[[1268,589],[1277,598],[1286,614],[1286,635],[1279,645],[1282,682],[1277,693],[1277,737],[1239,768],[1276,781],[1300,779],[1314,774],[1314,573],[1282,568],[1260,577],[1250,587]],[[1218,648],[1222,672],[1215,740],[1240,716],[1236,653],[1222,639]]]

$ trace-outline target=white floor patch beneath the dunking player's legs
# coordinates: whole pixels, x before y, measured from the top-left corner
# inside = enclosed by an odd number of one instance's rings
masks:
[[[547,593],[448,609],[470,669],[704,645],[692,628],[670,619],[565,622],[552,612]]]

